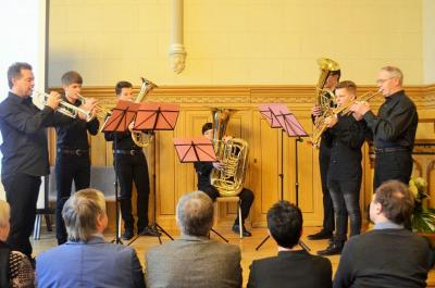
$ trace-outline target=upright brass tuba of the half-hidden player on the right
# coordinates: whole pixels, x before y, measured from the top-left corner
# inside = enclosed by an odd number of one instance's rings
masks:
[[[318,64],[320,76],[318,86],[315,87],[315,104],[321,108],[322,113],[314,118],[314,128],[310,139],[314,147],[319,147],[320,136],[326,128],[324,127],[324,120],[332,115],[332,109],[335,107],[334,92],[325,88],[327,77],[332,72],[340,68],[337,62],[327,58],[320,58]]]

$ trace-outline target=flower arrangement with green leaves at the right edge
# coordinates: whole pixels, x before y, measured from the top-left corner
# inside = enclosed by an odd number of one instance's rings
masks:
[[[412,178],[409,181],[409,189],[415,200],[412,229],[420,233],[435,233],[435,209],[428,209],[423,204],[423,200],[428,198],[426,180],[422,177]]]

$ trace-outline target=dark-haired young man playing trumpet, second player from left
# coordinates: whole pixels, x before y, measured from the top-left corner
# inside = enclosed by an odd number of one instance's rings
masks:
[[[83,78],[75,71],[63,74],[62,88],[64,91],[63,100],[74,107],[84,108],[92,113],[96,105],[95,99],[87,99],[83,103],[80,97]],[[66,116],[65,116],[66,117]],[[90,159],[88,133],[97,135],[99,122],[94,117],[89,122],[76,118],[69,125],[55,128],[58,136],[57,159],[55,159],[55,184],[57,184],[57,209],[55,209],[55,237],[58,243],[66,242],[66,229],[62,218],[62,209],[71,196],[74,180],[75,190],[88,188],[90,185]]]

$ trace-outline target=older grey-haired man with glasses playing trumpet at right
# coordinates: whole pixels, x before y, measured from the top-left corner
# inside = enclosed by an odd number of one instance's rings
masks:
[[[412,149],[414,146],[419,115],[415,104],[405,93],[403,74],[395,66],[385,66],[377,74],[377,87],[385,97],[377,116],[368,102],[351,107],[372,132],[375,164],[373,186],[375,191],[382,183],[397,179],[408,185],[412,173]]]

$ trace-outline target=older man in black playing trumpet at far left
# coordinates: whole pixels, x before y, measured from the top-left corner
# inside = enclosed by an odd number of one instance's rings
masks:
[[[72,121],[54,111],[61,97],[47,96],[39,110],[32,99],[35,77],[28,63],[13,63],[8,68],[9,95],[0,103],[1,181],[11,205],[11,231],[8,245],[32,256],[29,237],[34,228],[36,202],[41,176],[50,173],[46,128]]]

